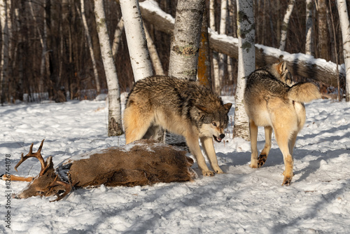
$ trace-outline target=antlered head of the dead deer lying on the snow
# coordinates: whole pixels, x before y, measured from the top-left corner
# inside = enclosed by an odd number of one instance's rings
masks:
[[[44,140],[43,140],[44,141]],[[34,177],[34,179],[30,182],[30,184],[25,188],[24,191],[15,195],[15,198],[29,198],[31,196],[40,195],[40,196],[50,196],[57,195],[56,200],[61,200],[71,191],[71,185],[67,184],[61,179],[59,179],[58,174],[55,172],[52,163],[52,156],[48,157],[45,161],[41,156],[41,149],[43,148],[43,141],[39,146],[39,149],[36,153],[33,153],[33,143],[30,146],[29,153],[26,156],[21,156],[20,162],[15,166],[15,170],[17,171],[17,167],[20,166],[25,160],[28,158],[34,157],[39,160],[41,163],[41,171],[38,176]],[[64,191],[62,195],[59,195],[61,191]],[[55,200],[52,200],[55,201]]]

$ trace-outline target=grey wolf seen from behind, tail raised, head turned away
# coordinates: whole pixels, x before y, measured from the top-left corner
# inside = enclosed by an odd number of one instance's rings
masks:
[[[313,83],[293,83],[286,62],[257,69],[246,80],[244,102],[251,135],[251,167],[264,165],[271,149],[272,130],[283,153],[285,170],[282,185],[293,177],[293,147],[305,123],[304,102],[321,98]],[[289,85],[288,85],[289,84]],[[258,157],[258,126],[265,128],[265,146]]]

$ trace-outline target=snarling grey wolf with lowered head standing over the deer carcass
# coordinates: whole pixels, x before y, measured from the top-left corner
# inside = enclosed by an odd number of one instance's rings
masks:
[[[185,137],[204,176],[223,173],[213,138],[221,142],[225,137],[231,106],[232,103],[223,104],[218,95],[195,81],[167,76],[144,78],[134,84],[127,97],[123,117],[126,143],[161,127]],[[199,140],[214,172],[205,163]]]

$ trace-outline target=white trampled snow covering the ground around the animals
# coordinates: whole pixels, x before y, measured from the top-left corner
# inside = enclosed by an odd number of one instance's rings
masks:
[[[317,100],[306,109],[290,186],[281,186],[284,165],[274,137],[266,164],[252,169],[250,144],[232,139],[230,123],[225,141],[215,143],[226,174],[202,177],[195,163],[199,177],[193,182],[79,189],[59,202],[11,198],[10,208],[1,199],[0,233],[350,233],[350,104]],[[83,153],[123,146],[124,136],[106,136],[107,116],[106,101],[1,106],[1,171],[10,154],[11,174],[38,174],[35,158],[18,172],[13,167],[31,142],[35,152],[44,138],[41,153],[44,159],[52,156],[55,166]],[[263,135],[259,129],[260,150]],[[10,191],[18,193],[26,185],[11,181]],[[5,181],[0,188],[3,197]]]

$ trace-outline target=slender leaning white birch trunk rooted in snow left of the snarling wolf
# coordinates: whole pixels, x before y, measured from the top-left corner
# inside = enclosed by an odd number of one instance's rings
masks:
[[[106,73],[109,90],[109,136],[123,134],[122,111],[120,105],[120,89],[116,65],[114,64],[111,43],[107,32],[106,16],[104,13],[104,1],[94,0],[94,14],[96,18],[99,47],[101,48],[102,62]]]

